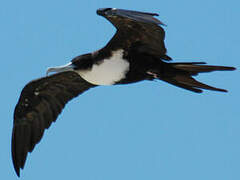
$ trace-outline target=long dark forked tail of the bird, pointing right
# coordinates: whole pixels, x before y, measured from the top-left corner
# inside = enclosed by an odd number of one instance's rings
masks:
[[[234,67],[204,65],[204,62],[165,63],[158,78],[175,86],[201,93],[202,89],[227,92],[225,89],[209,86],[195,80],[192,76],[211,71],[232,71]],[[156,73],[156,72],[154,72]]]

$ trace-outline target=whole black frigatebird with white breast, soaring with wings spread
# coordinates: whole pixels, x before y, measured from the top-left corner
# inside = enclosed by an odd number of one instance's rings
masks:
[[[21,92],[12,131],[12,161],[18,176],[27,154],[56,121],[65,104],[90,88],[157,79],[195,93],[203,89],[227,92],[193,76],[231,71],[234,67],[170,62],[164,44],[164,24],[154,17],[158,14],[116,8],[98,9],[97,14],[117,29],[107,45],[77,56],[64,66],[49,68],[47,74],[55,73],[29,82]]]

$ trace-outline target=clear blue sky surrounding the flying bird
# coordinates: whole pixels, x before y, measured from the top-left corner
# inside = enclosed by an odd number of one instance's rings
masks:
[[[0,3],[0,179],[17,179],[10,141],[24,85],[46,68],[104,46],[115,29],[95,11],[159,13],[168,55],[239,67],[237,0],[41,0]],[[229,93],[164,82],[98,87],[71,101],[28,156],[21,179],[239,180],[239,71],[199,80]]]

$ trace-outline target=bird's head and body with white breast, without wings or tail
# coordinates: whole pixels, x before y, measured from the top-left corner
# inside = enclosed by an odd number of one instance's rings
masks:
[[[140,55],[139,57],[136,55],[129,57],[127,55],[128,52],[123,49],[111,51],[109,54],[109,56],[101,59],[99,58],[99,56],[102,56],[101,50],[99,50],[94,53],[78,56],[71,63],[61,68],[69,70],[69,67],[71,67],[84,80],[94,85],[127,84],[153,79],[147,72],[151,69],[151,66],[154,66],[151,61],[145,61]],[[93,59],[99,60],[94,61]],[[83,61],[94,63],[86,68]],[[56,67],[53,69],[55,70]],[[49,72],[51,72],[51,68]]]

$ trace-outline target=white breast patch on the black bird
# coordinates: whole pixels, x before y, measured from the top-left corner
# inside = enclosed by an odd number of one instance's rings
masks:
[[[125,78],[129,70],[129,62],[123,58],[123,50],[112,52],[112,56],[104,59],[99,64],[94,64],[92,69],[78,70],[79,75],[86,81],[95,85],[112,85]]]

